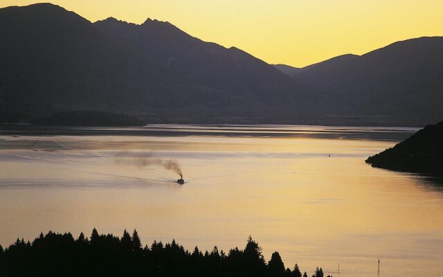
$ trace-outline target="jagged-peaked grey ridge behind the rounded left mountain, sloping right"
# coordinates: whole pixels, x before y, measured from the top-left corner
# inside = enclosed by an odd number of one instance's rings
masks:
[[[136,25],[109,17],[94,25],[116,42],[136,48],[159,66],[235,99],[236,104],[224,107],[226,112],[257,109],[260,113],[272,112],[282,120],[282,114],[296,120],[314,114],[311,107],[320,106],[327,99],[238,48],[203,42],[169,22],[147,19]]]

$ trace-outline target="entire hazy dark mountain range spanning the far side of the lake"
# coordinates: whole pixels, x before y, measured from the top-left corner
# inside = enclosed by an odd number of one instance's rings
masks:
[[[0,121],[68,110],[174,123],[425,125],[443,116],[442,37],[295,69],[168,22],[92,24],[52,4],[2,8],[0,26]]]

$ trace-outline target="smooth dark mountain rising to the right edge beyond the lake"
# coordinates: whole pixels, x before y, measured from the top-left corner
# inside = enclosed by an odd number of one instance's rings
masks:
[[[442,76],[443,37],[421,37],[308,66],[295,78],[349,100],[333,112],[344,120],[422,126],[443,118]]]

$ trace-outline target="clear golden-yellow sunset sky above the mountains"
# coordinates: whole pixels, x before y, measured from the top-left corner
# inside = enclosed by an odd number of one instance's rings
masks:
[[[32,0],[0,0],[0,7]],[[52,0],[90,21],[170,21],[272,64],[306,66],[403,39],[443,35],[442,0]]]

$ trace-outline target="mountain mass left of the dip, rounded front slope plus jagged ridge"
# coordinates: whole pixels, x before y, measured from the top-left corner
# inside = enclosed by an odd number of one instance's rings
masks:
[[[0,9],[0,24],[1,121],[68,110],[151,121],[288,121],[313,113],[322,98],[244,51],[167,22],[91,24],[35,4]]]

